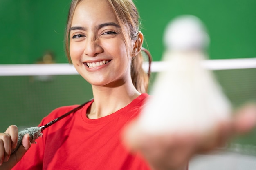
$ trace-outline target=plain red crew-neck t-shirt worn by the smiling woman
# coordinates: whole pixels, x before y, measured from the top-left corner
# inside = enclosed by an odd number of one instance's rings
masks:
[[[14,170],[150,170],[139,154],[132,155],[121,142],[124,125],[140,113],[147,94],[111,115],[88,119],[83,108],[43,131]],[[64,106],[52,111],[39,126],[72,110]]]

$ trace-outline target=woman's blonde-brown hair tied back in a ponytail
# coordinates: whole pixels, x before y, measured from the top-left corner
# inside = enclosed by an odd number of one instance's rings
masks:
[[[72,18],[74,15],[74,10],[76,6],[83,0],[72,0],[70,4],[70,10],[67,18],[67,27],[65,33],[65,51],[69,62],[70,51],[69,51],[69,41],[70,41],[70,27],[72,23]],[[117,22],[121,27],[121,31],[124,34],[124,41],[127,46],[127,52],[132,53],[132,43],[130,41],[136,41],[139,33],[139,14],[135,4],[132,0],[106,0],[112,11],[117,18]],[[129,51],[130,50],[130,51]],[[133,57],[131,62],[131,78],[132,83],[140,93],[146,93],[148,91],[149,74],[145,73],[142,68],[143,57],[141,52],[139,52],[135,57]]]

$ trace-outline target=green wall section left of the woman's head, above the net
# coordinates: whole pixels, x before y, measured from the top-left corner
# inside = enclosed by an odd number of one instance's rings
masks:
[[[63,40],[70,0],[1,0],[0,64],[31,64],[53,51],[65,63]]]

